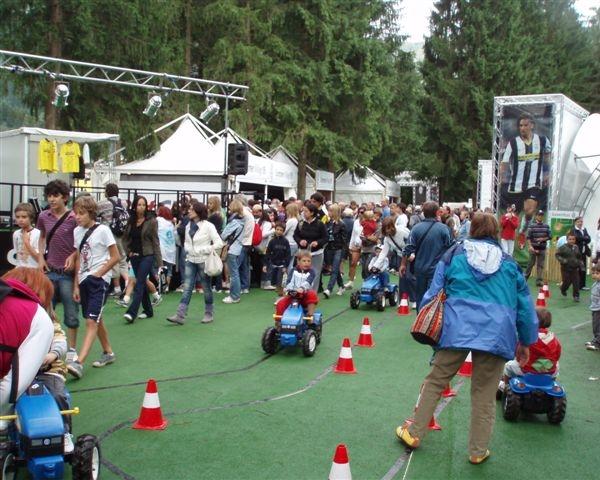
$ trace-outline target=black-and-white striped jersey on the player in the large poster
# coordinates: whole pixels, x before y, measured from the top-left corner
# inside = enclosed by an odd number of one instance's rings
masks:
[[[514,149],[516,149],[516,155]],[[550,151],[550,140],[546,137],[533,134],[529,144],[525,143],[521,137],[512,139],[506,146],[502,157],[502,163],[510,165],[508,191],[520,193],[534,187],[542,188],[543,154],[550,153]]]

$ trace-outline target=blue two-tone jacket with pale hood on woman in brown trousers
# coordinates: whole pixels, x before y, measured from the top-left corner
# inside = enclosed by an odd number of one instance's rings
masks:
[[[492,239],[468,239],[446,252],[421,305],[446,291],[438,348],[488,352],[511,360],[517,339],[537,340],[538,319],[525,277]]]

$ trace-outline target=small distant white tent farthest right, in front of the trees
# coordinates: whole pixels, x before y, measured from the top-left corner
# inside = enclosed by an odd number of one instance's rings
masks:
[[[345,170],[337,176],[335,180],[336,201],[379,202],[383,198],[397,197],[400,194],[400,187],[396,182],[385,178],[369,167],[364,168],[367,172],[365,178],[353,175],[350,170]]]

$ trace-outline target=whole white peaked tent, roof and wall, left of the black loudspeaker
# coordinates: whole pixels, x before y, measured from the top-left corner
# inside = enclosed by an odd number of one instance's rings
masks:
[[[215,147],[206,127],[193,115],[186,113],[169,125],[177,121],[177,130],[154,155],[115,167],[121,187],[221,191],[224,151]]]

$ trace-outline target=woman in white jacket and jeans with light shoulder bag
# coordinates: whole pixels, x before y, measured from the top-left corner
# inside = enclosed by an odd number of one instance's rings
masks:
[[[185,227],[185,280],[183,295],[179,301],[177,312],[167,320],[171,323],[183,325],[187,314],[192,291],[196,286],[196,278],[204,290],[204,318],[201,323],[213,321],[213,294],[211,277],[204,272],[204,264],[213,250],[220,251],[223,246],[221,237],[215,226],[208,221],[208,209],[200,202],[192,203],[188,213],[190,221]]]

